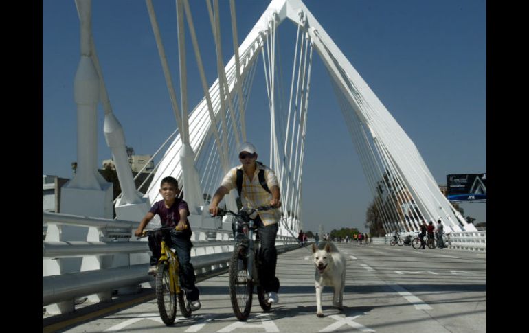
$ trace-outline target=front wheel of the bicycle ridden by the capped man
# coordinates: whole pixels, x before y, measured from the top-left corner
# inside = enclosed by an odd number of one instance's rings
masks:
[[[247,279],[248,260],[245,246],[236,246],[229,262],[229,298],[235,317],[245,321],[251,310],[251,298],[254,284]]]

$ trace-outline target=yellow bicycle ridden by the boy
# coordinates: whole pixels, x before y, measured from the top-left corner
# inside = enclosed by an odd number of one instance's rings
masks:
[[[175,234],[182,233],[182,231],[176,230],[174,227],[163,227],[144,230],[143,235],[137,239],[153,235],[157,231],[169,231]],[[191,317],[192,311],[188,299],[185,297],[185,290],[180,288],[178,257],[163,238],[161,240],[161,256],[158,260],[155,278],[156,302],[161,320],[166,325],[175,323],[177,317],[177,299],[182,316],[185,318]]]

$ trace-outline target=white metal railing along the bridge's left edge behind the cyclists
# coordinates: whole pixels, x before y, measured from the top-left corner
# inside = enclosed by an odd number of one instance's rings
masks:
[[[120,235],[128,233],[130,238],[139,223],[43,211],[43,225],[45,224],[48,226],[96,227],[101,231],[100,234],[104,235],[104,239],[108,239],[115,232]],[[195,269],[196,281],[225,273],[234,248],[232,230],[193,228],[193,233],[191,263]],[[147,253],[149,251],[146,241],[129,242],[128,239],[121,239],[120,242],[45,240],[43,241],[43,268],[49,264],[50,259],[60,265],[60,260],[55,259],[119,253]],[[276,244],[278,253],[297,249],[297,239],[292,237],[278,236]],[[146,274],[147,268],[148,263],[143,263],[100,267],[89,271],[58,275],[44,276],[43,274],[43,306],[64,301],[73,302],[77,297],[151,282],[153,277]]]

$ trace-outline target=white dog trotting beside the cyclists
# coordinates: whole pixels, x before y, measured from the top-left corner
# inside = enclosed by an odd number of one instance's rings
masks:
[[[331,242],[321,242],[312,246],[313,260],[316,265],[315,287],[317,317],[324,317],[322,312],[322,290],[324,286],[333,286],[333,306],[343,310],[344,288],[346,286],[346,256],[340,253]]]

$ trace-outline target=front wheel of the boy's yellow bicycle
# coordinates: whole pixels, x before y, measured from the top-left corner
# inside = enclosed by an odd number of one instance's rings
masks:
[[[175,288],[170,288],[171,279],[169,277],[169,264],[162,262],[158,264],[156,274],[156,302],[160,318],[166,325],[175,323],[177,317],[177,294]]]

